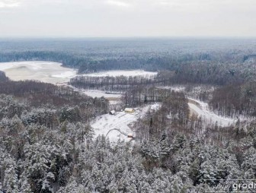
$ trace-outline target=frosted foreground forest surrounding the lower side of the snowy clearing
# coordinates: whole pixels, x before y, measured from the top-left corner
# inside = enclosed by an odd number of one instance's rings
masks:
[[[17,87],[24,84],[23,95]],[[8,87],[0,103],[2,192],[205,192],[232,187],[218,179],[256,177],[255,122],[203,128],[200,119],[189,119],[184,93],[163,95],[162,108],[135,123],[138,143],[131,148],[92,138],[91,115],[82,112],[104,113],[103,98],[81,101],[78,93],[33,81]],[[29,93],[63,98],[69,107],[34,103]]]

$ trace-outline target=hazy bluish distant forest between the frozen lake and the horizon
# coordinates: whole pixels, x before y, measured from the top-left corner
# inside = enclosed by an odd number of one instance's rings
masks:
[[[250,39],[0,40],[0,62],[61,62],[78,68],[79,73],[117,69],[173,71],[191,62],[203,62],[208,67],[232,64],[229,70],[233,71],[234,65],[254,59],[255,52],[254,40]]]

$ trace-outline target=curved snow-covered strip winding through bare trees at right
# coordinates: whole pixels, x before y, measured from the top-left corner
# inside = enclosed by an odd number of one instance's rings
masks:
[[[200,100],[194,100],[191,98],[189,98],[189,100],[192,100],[199,104],[199,106],[197,106],[194,103],[188,103],[188,106],[194,112],[197,112],[197,115],[199,115],[203,119],[203,121],[206,121],[208,123],[213,123],[213,124],[215,124],[217,122],[217,124],[222,127],[232,125],[236,122],[235,119],[226,118],[226,117],[222,117],[220,115],[216,115],[216,113],[209,110],[207,103],[203,103]]]

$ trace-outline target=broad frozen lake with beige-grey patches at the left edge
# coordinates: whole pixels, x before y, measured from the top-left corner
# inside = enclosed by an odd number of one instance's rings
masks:
[[[67,82],[75,77],[76,70],[64,68],[57,62],[0,62],[0,71],[5,71],[13,81],[36,80],[46,83]]]

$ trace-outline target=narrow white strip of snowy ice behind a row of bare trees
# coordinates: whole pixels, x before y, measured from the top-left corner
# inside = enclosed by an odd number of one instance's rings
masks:
[[[82,74],[82,76],[89,76],[89,77],[117,77],[117,76],[149,76],[149,75],[156,75],[157,72],[152,71],[142,71],[142,70],[134,70],[134,71],[102,71],[97,73],[90,73],[90,74]]]

